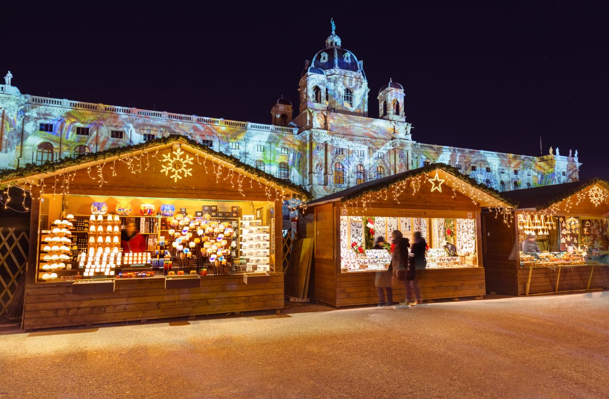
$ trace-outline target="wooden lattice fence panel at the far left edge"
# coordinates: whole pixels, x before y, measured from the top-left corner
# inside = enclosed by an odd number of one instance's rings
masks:
[[[23,285],[19,287],[19,280],[26,270],[28,251],[27,231],[0,227],[0,315],[7,311],[18,288],[23,289]]]

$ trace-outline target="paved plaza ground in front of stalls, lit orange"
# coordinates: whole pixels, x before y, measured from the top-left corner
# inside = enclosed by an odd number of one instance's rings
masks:
[[[0,334],[0,398],[609,395],[609,291]]]

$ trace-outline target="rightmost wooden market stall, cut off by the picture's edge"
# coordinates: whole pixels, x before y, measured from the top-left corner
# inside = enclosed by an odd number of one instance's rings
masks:
[[[483,215],[487,290],[510,295],[609,286],[609,183],[600,179],[502,193],[518,201],[516,223]],[[535,235],[540,254],[523,252]]]

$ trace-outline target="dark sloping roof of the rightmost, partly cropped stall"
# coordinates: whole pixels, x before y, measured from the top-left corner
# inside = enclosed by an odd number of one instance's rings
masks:
[[[552,184],[551,186],[531,187],[530,189],[520,189],[506,191],[502,193],[507,198],[519,203],[518,209],[537,210],[546,209],[552,204],[559,203],[563,199],[569,198],[577,192],[587,187],[599,184],[609,190],[609,182],[594,178],[591,180],[574,181],[563,184]]]

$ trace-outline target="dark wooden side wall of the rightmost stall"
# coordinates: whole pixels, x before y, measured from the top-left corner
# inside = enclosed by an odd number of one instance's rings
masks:
[[[514,226],[501,216],[482,216],[482,252],[487,291],[518,295],[518,249]]]

